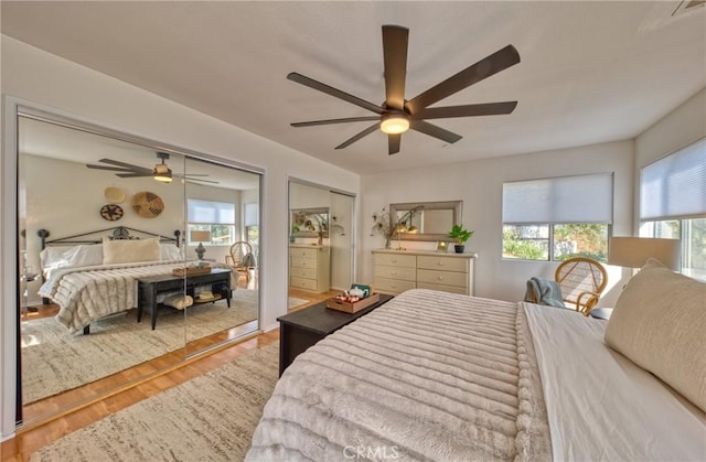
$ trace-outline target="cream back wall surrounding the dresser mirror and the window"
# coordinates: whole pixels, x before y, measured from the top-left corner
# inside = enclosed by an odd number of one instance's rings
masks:
[[[400,155],[404,155],[400,154]],[[463,201],[462,222],[475,230],[467,251],[475,251],[475,294],[516,301],[524,297],[533,276],[554,277],[556,262],[503,260],[503,182],[585,173],[614,172],[613,230],[629,234],[632,227],[634,152],[632,141],[617,141],[501,159],[485,159],[434,169],[415,169],[362,179],[361,281],[373,280],[371,250],[383,246],[371,236],[372,214],[397,202]],[[428,249],[434,243],[424,243]],[[418,243],[405,243],[420,248]],[[612,272],[612,271],[611,271]],[[610,305],[616,292],[608,290],[601,304]]]

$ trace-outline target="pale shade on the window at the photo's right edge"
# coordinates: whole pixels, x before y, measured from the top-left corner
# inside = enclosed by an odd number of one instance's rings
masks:
[[[706,138],[642,169],[640,219],[706,216]]]

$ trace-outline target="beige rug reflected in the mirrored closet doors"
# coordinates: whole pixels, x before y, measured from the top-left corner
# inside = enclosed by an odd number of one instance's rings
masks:
[[[186,329],[184,329],[184,318]],[[97,321],[89,335],[72,335],[53,318],[22,322],[23,404],[54,396],[257,319],[257,291],[233,292],[224,300],[162,309],[154,331],[149,314],[137,322],[133,311]]]

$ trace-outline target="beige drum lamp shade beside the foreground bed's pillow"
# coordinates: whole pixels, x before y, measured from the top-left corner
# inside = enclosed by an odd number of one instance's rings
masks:
[[[608,243],[608,265],[641,268],[649,258],[654,258],[667,268],[680,270],[680,244],[678,239],[611,237]]]

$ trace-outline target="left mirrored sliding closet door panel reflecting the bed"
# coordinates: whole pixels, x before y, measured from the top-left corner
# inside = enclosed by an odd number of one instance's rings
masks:
[[[57,123],[31,110],[18,127],[19,383],[21,420],[30,422],[182,361],[183,313],[160,311],[151,330],[149,313],[137,321],[137,292],[97,282],[93,292],[72,298],[52,282],[62,272],[87,277],[78,271],[115,264],[106,260],[104,237],[135,237],[128,240],[138,245],[150,233],[174,238],[185,223],[185,189],[181,181],[153,179],[162,163],[157,149],[115,132]],[[165,163],[183,171],[184,157],[171,153]],[[165,244],[170,258],[181,258],[176,243]],[[167,251],[159,250],[153,257]],[[140,251],[132,256],[147,259]],[[96,311],[99,319],[85,334],[86,313]]]

